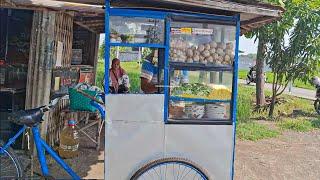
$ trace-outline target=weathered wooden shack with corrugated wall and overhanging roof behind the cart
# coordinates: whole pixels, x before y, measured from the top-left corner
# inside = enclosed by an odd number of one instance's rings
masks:
[[[110,3],[121,8],[216,15],[240,13],[242,34],[270,23],[284,11],[279,6],[251,0],[112,0]],[[68,87],[79,81],[82,68],[91,70],[95,77],[99,34],[104,33],[104,5],[104,0],[0,0],[2,139],[17,130],[6,120],[8,111],[39,107],[47,104],[53,94],[66,93]],[[59,108],[46,114],[41,125],[41,134],[50,144],[59,138],[63,127],[60,111],[67,105],[67,101],[61,101]]]

